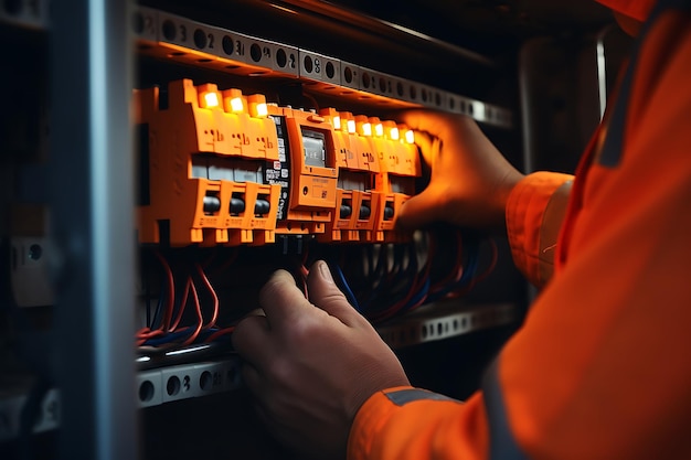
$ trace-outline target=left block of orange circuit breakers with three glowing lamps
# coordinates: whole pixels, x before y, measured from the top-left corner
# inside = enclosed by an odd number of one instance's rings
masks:
[[[275,239],[280,186],[264,183],[279,161],[264,96],[171,82],[135,92],[141,140],[141,243],[264,244]]]

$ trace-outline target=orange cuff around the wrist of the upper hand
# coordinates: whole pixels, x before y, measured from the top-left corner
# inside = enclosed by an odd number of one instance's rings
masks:
[[[533,285],[551,278],[554,248],[573,176],[535,172],[519,182],[507,203],[507,233],[513,261]]]

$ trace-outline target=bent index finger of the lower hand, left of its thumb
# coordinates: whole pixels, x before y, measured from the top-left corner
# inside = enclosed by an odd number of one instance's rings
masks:
[[[266,281],[259,291],[259,304],[272,329],[300,314],[306,307],[313,308],[286,270],[276,270]]]

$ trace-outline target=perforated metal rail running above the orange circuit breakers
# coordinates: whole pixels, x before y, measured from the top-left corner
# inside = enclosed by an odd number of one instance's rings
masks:
[[[511,128],[509,109],[285,43],[263,40],[161,10],[138,7],[132,20],[139,52],[162,60],[253,77],[304,83],[328,96],[366,100],[382,109],[426,107]]]

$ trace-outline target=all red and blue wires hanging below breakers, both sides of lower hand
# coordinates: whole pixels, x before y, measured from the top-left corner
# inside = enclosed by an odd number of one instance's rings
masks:
[[[171,252],[166,257],[152,252],[153,257],[145,260],[149,265],[155,260],[155,267],[145,265],[142,270],[147,276],[146,325],[137,332],[136,343],[141,350],[169,350],[227,340],[234,327],[219,325],[221,304],[225,313],[230,313],[230,319],[222,322],[236,323],[247,310],[241,311],[231,304],[257,304],[258,288],[276,268],[293,271],[298,287],[308,297],[307,267],[318,258],[329,263],[349,302],[373,323],[381,323],[422,304],[458,297],[471,289],[496,264],[497,247],[493,240],[489,242],[491,259],[479,275],[482,239],[448,228],[418,233],[411,243],[305,245],[297,258],[285,254],[277,257],[275,253],[264,254],[253,248],[237,260],[238,252],[230,257],[217,257],[222,253],[205,249],[211,252],[211,257],[200,263],[205,253],[199,249]],[[182,260],[177,260],[173,269],[171,260],[180,257]],[[155,295],[150,292],[151,274],[158,275],[153,276],[158,281]],[[249,286],[249,280],[256,286]],[[225,288],[223,292],[232,302],[220,300],[219,287]]]

